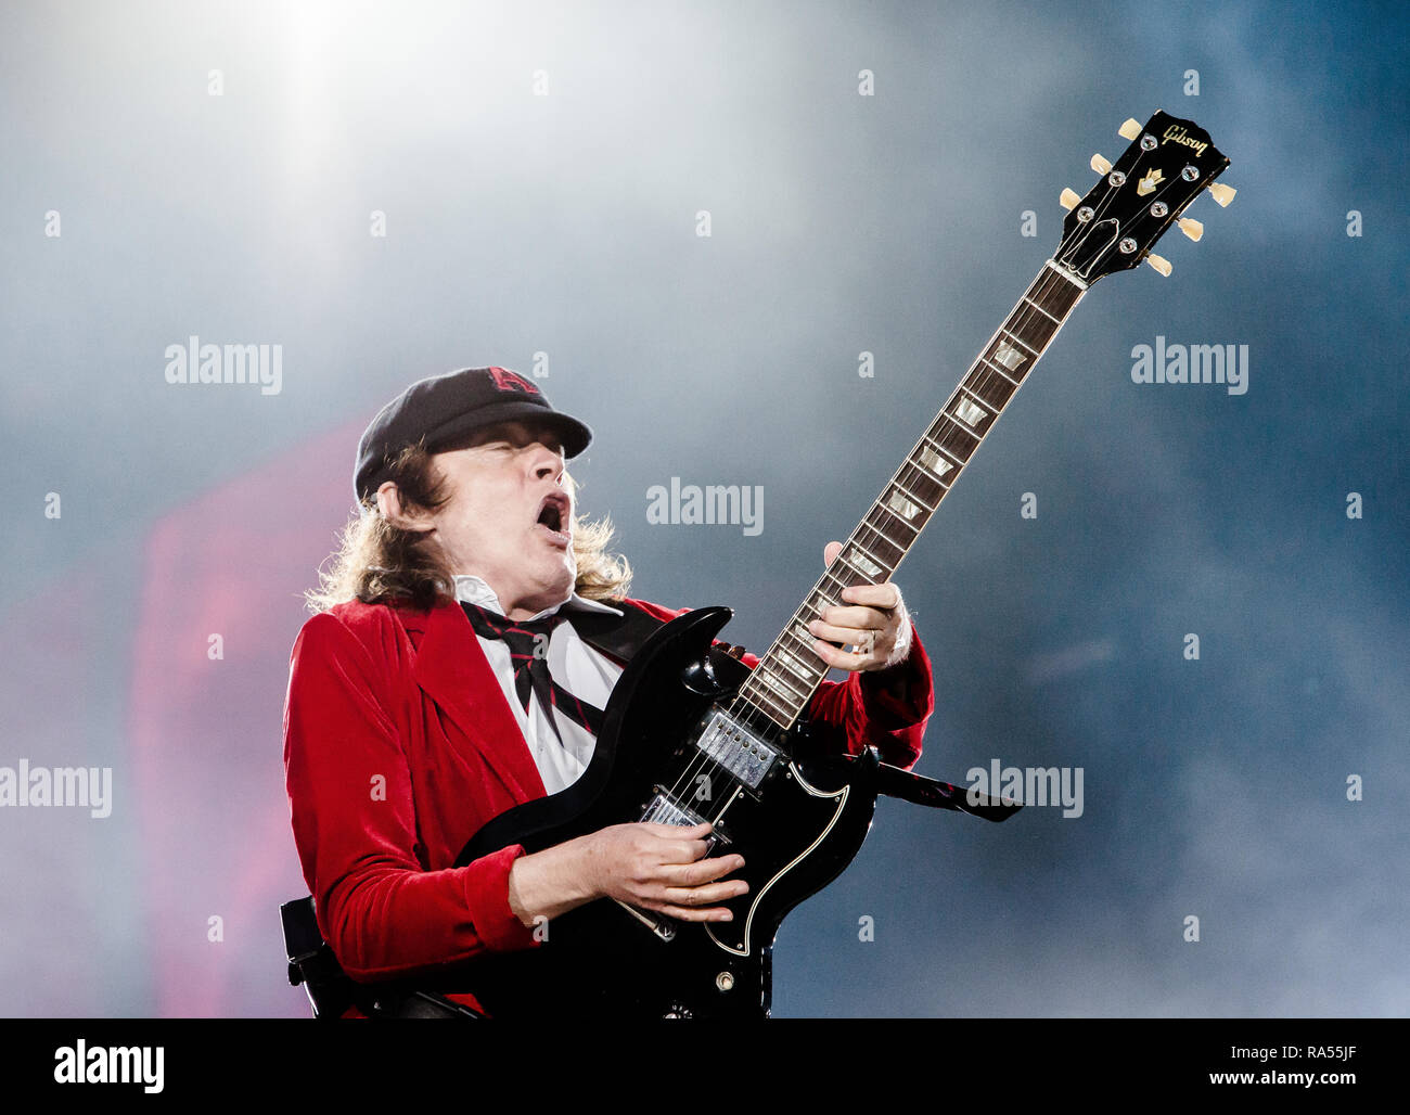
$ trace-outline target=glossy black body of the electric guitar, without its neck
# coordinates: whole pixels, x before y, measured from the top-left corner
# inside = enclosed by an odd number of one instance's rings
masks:
[[[728,904],[735,920],[677,922],[598,899],[546,923],[536,949],[464,966],[460,987],[447,990],[470,991],[495,1018],[767,1016],[774,935],[862,847],[877,758],[809,757],[805,727],[781,732],[757,715],[721,720],[750,674],[711,643],[732,615],[699,609],[656,632],[618,679],[582,777],[491,820],[457,864],[625,822],[711,820],[721,837],[711,854],[744,857],[730,875],[749,882]]]

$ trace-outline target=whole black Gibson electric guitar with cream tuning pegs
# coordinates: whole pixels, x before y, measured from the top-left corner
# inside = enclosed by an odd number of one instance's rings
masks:
[[[608,825],[653,820],[713,823],[719,851],[739,851],[749,892],[730,902],[732,922],[677,922],[599,899],[556,918],[536,949],[489,954],[464,966],[465,990],[492,1016],[759,1018],[768,1014],[770,960],[784,916],[852,861],[866,839],[878,794],[912,801],[959,798],[948,784],[918,780],[860,757],[815,754],[802,713],[828,665],[807,624],[839,602],[843,588],[888,581],[986,434],[1024,385],[1087,289],[1151,254],[1179,221],[1191,240],[1203,226],[1182,217],[1204,189],[1227,206],[1214,179],[1228,159],[1189,120],[1156,113],[1101,179],[1069,210],[1058,251],[984,345],[940,413],[905,455],[842,553],[788,624],[749,670],[713,644],[733,615],[688,612],[656,632],[629,661],[608,702],[592,761],[565,791],[486,823],[457,865],[523,844],[529,851]],[[905,780],[912,780],[902,785]],[[931,802],[938,803],[938,802]],[[945,802],[966,809],[962,802]],[[1000,808],[1000,806],[995,806]],[[997,819],[997,818],[991,818]]]

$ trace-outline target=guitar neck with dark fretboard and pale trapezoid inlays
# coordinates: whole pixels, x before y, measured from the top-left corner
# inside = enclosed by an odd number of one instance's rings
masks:
[[[783,729],[794,725],[828,674],[828,664],[812,648],[808,623],[823,608],[845,603],[842,589],[891,579],[1086,289],[1087,283],[1053,261],[1043,265],[760,658],[739,691],[740,702]]]

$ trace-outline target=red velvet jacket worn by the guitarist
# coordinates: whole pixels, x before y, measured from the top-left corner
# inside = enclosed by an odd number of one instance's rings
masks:
[[[680,615],[626,603],[663,620]],[[894,670],[907,675],[907,701],[874,672],[822,684],[809,716],[825,746],[853,754],[874,746],[887,763],[915,763],[933,708],[919,639]],[[488,820],[544,796],[457,603],[412,610],[354,600],[307,620],[289,658],[283,761],[319,928],[354,980],[427,975],[431,987],[437,970],[481,951],[537,947],[509,908],[522,846],[451,867]]]

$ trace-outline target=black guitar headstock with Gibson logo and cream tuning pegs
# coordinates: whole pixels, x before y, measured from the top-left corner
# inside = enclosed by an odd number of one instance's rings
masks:
[[[1213,185],[1230,161],[1194,121],[1156,113],[1145,127],[1128,120],[1120,135],[1131,145],[1115,164],[1091,156],[1101,180],[1086,197],[1062,192],[1069,213],[1053,259],[1087,285],[1142,259],[1169,275],[1170,265],[1151,248],[1176,221],[1190,240],[1204,235],[1203,224],[1182,218],[1190,202],[1206,187],[1221,206],[1234,200],[1230,186]]]

